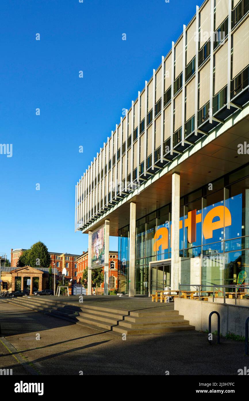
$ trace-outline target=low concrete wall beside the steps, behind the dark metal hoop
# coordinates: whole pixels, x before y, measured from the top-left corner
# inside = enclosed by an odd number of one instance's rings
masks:
[[[245,321],[249,317],[249,307],[184,298],[175,298],[174,304],[174,309],[178,310],[184,319],[189,320],[189,324],[195,326],[195,330],[208,330],[209,314],[215,310],[221,317],[221,334],[231,332],[245,336]],[[217,330],[216,314],[212,316],[211,330],[212,332]]]

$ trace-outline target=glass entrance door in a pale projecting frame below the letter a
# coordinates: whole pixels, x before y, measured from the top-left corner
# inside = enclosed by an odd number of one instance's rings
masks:
[[[149,296],[170,287],[171,259],[149,263]]]

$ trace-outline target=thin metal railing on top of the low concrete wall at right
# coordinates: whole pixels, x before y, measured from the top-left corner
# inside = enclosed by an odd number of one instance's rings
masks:
[[[215,285],[215,284],[213,284],[213,285],[206,285],[206,284],[205,285],[204,284],[179,284],[179,298],[181,298],[181,292],[185,291],[185,290],[181,289],[183,287],[196,288],[196,294],[198,294],[199,301],[201,300],[201,298],[203,298],[203,296],[201,296],[202,288],[205,288],[205,289],[213,288],[213,290],[212,290],[213,302],[214,302],[214,299],[217,298],[217,297],[215,297],[215,292],[218,291],[218,292],[221,292],[223,294],[223,301],[224,301],[223,303],[224,304],[226,303],[226,288],[235,289],[235,291],[233,291],[233,292],[235,292],[235,305],[237,305],[237,296],[240,294],[240,292],[238,291],[239,289],[248,290],[245,295],[247,295],[248,299],[249,299],[249,285],[246,286],[246,285],[240,284],[240,285],[236,286],[234,284],[226,284],[226,285],[223,285],[223,284],[221,284],[221,285],[220,284],[217,284],[217,285]],[[223,288],[224,290],[220,290],[220,288]],[[238,289],[237,291],[236,291],[236,288]],[[215,291],[215,290],[217,290],[217,291]],[[202,292],[206,292],[206,291],[204,290]],[[207,290],[207,293],[211,293],[211,291]]]

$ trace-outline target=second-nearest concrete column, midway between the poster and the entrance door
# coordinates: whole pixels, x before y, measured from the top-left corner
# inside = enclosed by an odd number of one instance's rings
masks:
[[[136,204],[129,209],[129,297],[135,296]]]

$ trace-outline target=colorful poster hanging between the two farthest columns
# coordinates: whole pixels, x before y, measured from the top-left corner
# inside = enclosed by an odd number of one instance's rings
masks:
[[[105,225],[92,233],[91,269],[105,264]]]

